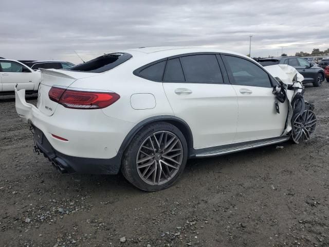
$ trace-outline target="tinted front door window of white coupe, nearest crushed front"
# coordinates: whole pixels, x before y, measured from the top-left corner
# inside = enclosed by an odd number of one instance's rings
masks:
[[[267,73],[256,64],[232,56],[225,57],[225,66],[231,70],[235,85],[272,87]]]

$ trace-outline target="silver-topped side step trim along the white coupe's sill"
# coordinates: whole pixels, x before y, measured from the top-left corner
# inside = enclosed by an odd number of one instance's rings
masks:
[[[255,143],[250,143],[250,144],[243,144],[243,145],[234,146],[234,147],[222,148],[222,149],[218,149],[215,151],[199,153],[199,154],[196,154],[195,157],[218,156],[218,155],[234,153],[234,152],[244,151],[244,150],[253,149],[253,148],[264,147],[264,146],[268,146],[268,145],[272,145],[272,144],[286,142],[289,138],[290,138],[290,136],[284,136],[284,137],[279,137],[279,138],[271,139],[271,140],[263,140],[260,142],[255,142]]]

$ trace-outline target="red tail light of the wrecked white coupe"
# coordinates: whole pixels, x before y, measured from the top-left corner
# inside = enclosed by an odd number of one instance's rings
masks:
[[[48,93],[49,99],[72,109],[102,109],[120,98],[120,95],[111,92],[64,90],[61,94],[61,90],[58,87],[51,87]]]

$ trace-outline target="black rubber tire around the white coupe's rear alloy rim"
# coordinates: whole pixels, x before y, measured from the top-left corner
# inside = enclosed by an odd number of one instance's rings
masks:
[[[173,177],[169,181],[160,185],[151,185],[143,181],[139,175],[137,169],[137,155],[142,144],[145,142],[145,140],[149,138],[150,135],[163,131],[167,131],[174,134],[177,137],[177,139],[180,141],[182,148],[181,164],[177,169],[175,175],[173,175]],[[158,191],[170,187],[177,181],[178,177],[181,175],[181,173],[185,168],[187,162],[187,156],[188,156],[187,142],[181,131],[174,125],[171,125],[170,123],[155,122],[155,123],[151,123],[148,126],[145,126],[134,136],[132,142],[124,152],[122,158],[121,172],[126,178],[126,180],[128,180],[131,184],[133,184],[137,188],[144,191]],[[157,163],[155,163],[155,165],[156,164]]]

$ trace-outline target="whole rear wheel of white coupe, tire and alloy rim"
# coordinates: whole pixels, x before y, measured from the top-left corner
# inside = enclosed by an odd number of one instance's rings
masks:
[[[121,170],[141,190],[166,189],[184,170],[187,152],[186,139],[177,127],[155,122],[134,136],[124,153]]]

